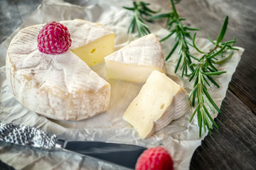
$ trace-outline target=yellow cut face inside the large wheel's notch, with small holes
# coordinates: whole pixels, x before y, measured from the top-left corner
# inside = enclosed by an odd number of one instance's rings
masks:
[[[104,57],[114,52],[114,33],[105,35],[98,40],[92,41],[83,47],[71,50],[78,55],[89,67],[104,62]]]

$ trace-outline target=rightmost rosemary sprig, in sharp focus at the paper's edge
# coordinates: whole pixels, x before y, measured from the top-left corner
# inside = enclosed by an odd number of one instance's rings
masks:
[[[233,47],[235,43],[235,38],[234,40],[230,41],[225,41],[222,42],[225,32],[228,28],[228,16],[226,16],[225,21],[223,23],[223,27],[220,30],[220,33],[218,35],[218,39],[216,42],[210,39],[208,36],[208,39],[210,42],[215,45],[213,49],[210,49],[209,52],[203,52],[196,46],[196,33],[193,36],[193,47],[203,54],[203,56],[200,58],[200,60],[197,63],[191,64],[191,67],[194,67],[194,71],[190,75],[189,81],[192,79],[195,79],[194,85],[193,85],[193,90],[188,96],[188,100],[192,98],[192,106],[195,106],[196,104],[196,109],[191,115],[191,120],[193,119],[194,115],[197,113],[197,118],[198,118],[198,126],[199,126],[199,136],[201,137],[201,132],[202,128],[206,132],[206,128],[211,134],[211,129],[213,129],[213,126],[210,124],[210,122],[213,123],[214,127],[218,129],[218,125],[215,123],[213,118],[210,116],[210,113],[206,106],[210,108],[210,111],[215,113],[215,111],[218,111],[220,113],[220,109],[218,106],[215,104],[213,101],[213,98],[210,97],[210,94],[208,94],[208,89],[206,88],[206,84],[210,86],[209,81],[211,81],[217,88],[219,88],[219,84],[214,80],[214,76],[220,76],[221,74],[225,73],[225,71],[218,71],[218,69],[215,67],[215,64],[217,63],[218,56],[224,57],[224,60],[232,57],[233,52],[230,53],[228,57],[225,57],[225,52],[228,50],[237,50]],[[222,62],[220,62],[221,64]]]

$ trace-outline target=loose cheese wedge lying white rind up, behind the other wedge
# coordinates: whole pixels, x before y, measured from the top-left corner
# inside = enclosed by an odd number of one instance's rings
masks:
[[[145,35],[105,57],[109,79],[144,83],[152,71],[164,72],[164,56],[156,35]]]

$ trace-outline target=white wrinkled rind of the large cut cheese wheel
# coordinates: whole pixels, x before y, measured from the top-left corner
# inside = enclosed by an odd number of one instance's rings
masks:
[[[70,31],[71,49],[112,33],[89,21],[61,23]],[[60,55],[39,52],[42,27],[24,28],[9,45],[6,78],[12,94],[31,111],[58,120],[82,120],[107,111],[110,84],[69,50]]]

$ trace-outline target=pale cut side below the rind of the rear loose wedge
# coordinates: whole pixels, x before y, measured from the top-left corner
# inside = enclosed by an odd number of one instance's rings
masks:
[[[106,73],[109,79],[122,79],[135,83],[144,83],[149,77],[149,74],[154,70],[164,72],[164,69],[159,69],[155,66],[146,66],[138,64],[124,64],[122,62],[114,62],[107,60],[105,63]]]

